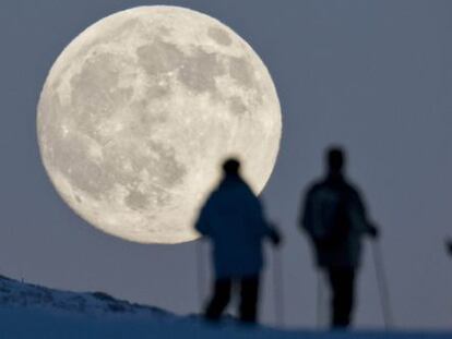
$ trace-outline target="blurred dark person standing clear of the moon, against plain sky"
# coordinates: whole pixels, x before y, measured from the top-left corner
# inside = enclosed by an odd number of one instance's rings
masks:
[[[352,320],[361,239],[365,234],[377,238],[378,230],[369,222],[357,189],[344,177],[344,152],[330,148],[325,160],[325,178],[306,194],[300,227],[313,244],[317,265],[330,280],[331,326],[346,328]]]

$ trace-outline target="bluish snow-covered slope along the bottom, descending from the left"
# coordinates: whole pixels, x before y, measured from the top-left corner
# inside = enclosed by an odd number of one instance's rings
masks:
[[[452,332],[283,331],[231,322],[213,326],[198,317],[177,316],[156,307],[116,300],[102,292],[58,291],[0,276],[0,339],[3,338],[445,339],[452,338]]]

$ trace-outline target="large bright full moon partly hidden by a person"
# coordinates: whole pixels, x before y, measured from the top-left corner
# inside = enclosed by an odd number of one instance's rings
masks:
[[[140,7],[90,26],[40,94],[44,167],[99,230],[141,243],[197,239],[193,222],[234,156],[259,194],[279,149],[267,69],[234,31],[177,7]]]

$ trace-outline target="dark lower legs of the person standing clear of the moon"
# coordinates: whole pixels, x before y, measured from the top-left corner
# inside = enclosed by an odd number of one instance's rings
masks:
[[[346,328],[350,325],[354,306],[355,270],[352,268],[330,268],[332,290],[331,326]]]

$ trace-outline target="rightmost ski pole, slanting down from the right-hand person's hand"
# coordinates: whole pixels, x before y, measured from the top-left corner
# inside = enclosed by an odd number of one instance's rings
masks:
[[[383,256],[379,242],[372,242],[373,263],[376,267],[377,284],[380,293],[380,304],[383,314],[384,328],[389,330],[393,326],[391,300],[388,288],[388,280],[383,265]]]

